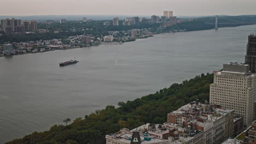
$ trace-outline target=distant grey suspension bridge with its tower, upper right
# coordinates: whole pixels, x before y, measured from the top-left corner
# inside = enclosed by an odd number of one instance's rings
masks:
[[[214,20],[215,22],[210,22],[211,20]],[[231,22],[218,22],[219,19],[224,19],[224,20],[229,20]],[[254,22],[243,22],[243,21],[235,21],[235,20],[231,20],[231,19],[227,19],[225,17],[218,17],[218,15],[216,15],[215,18],[211,18],[210,20],[206,21],[205,23],[207,24],[215,24],[215,29],[218,29],[218,24],[222,24],[222,25],[230,25],[230,24],[241,24],[241,25],[256,25],[256,23]]]

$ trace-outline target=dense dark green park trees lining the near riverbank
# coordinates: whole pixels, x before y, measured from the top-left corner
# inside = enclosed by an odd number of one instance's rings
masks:
[[[5,144],[97,144],[106,143],[106,134],[115,133],[121,128],[133,129],[145,123],[161,124],[167,121],[167,113],[199,99],[209,100],[210,83],[213,74],[201,74],[182,83],[174,83],[168,88],[142,98],[120,101],[118,107],[107,105],[106,109],[96,110],[84,118],[76,118],[71,124],[54,125],[48,131],[34,132],[22,139]],[[66,125],[67,124],[67,125]]]

